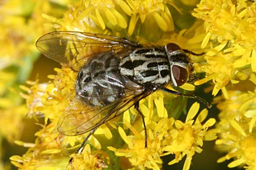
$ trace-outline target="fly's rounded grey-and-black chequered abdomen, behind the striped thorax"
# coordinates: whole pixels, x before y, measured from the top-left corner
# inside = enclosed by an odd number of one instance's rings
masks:
[[[112,52],[99,54],[79,71],[76,93],[82,102],[90,106],[110,105],[128,95],[127,87],[139,90],[139,86],[120,74],[119,58]]]

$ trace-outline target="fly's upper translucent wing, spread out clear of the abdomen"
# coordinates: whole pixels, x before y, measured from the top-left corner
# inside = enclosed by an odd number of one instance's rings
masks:
[[[36,47],[46,57],[74,66],[77,62],[83,63],[95,54],[110,50],[118,53],[141,45],[125,38],[105,34],[54,31],[40,37]]]

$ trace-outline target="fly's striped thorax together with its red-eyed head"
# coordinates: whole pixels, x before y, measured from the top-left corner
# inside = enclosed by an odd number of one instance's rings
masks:
[[[192,64],[188,56],[175,45],[169,43],[163,48],[134,50],[120,61],[120,73],[139,84],[183,85],[189,77]]]

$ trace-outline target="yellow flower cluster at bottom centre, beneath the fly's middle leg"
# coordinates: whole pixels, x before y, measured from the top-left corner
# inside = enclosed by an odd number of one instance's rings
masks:
[[[127,144],[127,149],[116,149],[108,147],[109,150],[115,152],[116,156],[125,156],[131,162],[131,165],[139,167],[144,170],[150,168],[153,170],[160,170],[162,167],[162,160],[160,156],[174,154],[175,159],[169,164],[175,164],[186,156],[186,161],[183,170],[189,170],[192,156],[195,152],[201,153],[204,140],[216,139],[216,130],[208,130],[214,125],[215,119],[208,119],[202,124],[207,117],[207,109],[199,113],[198,118],[193,120],[199,110],[199,104],[194,103],[186,117],[186,122],[183,123],[173,118],[159,119],[155,122],[151,120],[148,122],[148,147],[144,147],[145,136],[144,130],[137,131],[133,126],[128,124],[134,135],[127,136],[125,131],[119,127],[119,134]]]

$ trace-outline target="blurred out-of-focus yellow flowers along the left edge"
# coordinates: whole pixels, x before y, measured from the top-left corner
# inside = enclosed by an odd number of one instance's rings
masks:
[[[13,143],[19,139],[24,127],[28,109],[18,91],[39,56],[35,41],[41,34],[53,30],[52,26],[44,26],[47,21],[41,14],[61,17],[63,9],[55,8],[56,4],[62,8],[67,5],[61,0],[55,3],[49,0],[0,2],[0,169],[9,167],[2,162],[8,150],[2,142]]]

